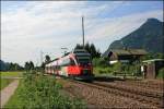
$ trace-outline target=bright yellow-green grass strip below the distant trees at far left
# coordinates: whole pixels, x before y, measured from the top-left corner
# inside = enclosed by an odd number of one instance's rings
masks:
[[[23,72],[20,72],[20,71],[17,71],[17,72],[0,72],[0,75],[1,76],[14,76],[14,77],[17,77],[17,76],[22,76],[22,74],[23,74]]]

